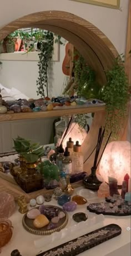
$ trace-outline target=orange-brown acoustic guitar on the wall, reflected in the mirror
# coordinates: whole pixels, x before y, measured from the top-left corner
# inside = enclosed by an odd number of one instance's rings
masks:
[[[72,45],[68,42],[66,44],[66,55],[62,64],[62,71],[64,75],[70,75],[70,61],[72,60]]]

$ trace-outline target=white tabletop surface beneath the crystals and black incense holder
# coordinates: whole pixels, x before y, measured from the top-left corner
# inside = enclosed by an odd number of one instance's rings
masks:
[[[73,195],[83,195],[83,187],[75,189]],[[18,212],[18,210],[11,216],[11,221],[13,225],[13,236],[11,241],[2,248],[1,256],[10,256],[12,250],[18,249],[21,252],[22,256],[36,256],[41,250],[46,251],[50,248],[56,247],[59,244],[62,244],[66,241],[72,240],[74,233],[77,235],[84,235],[93,231],[95,229],[101,228],[102,226],[109,224],[118,224],[122,228],[122,234],[116,238],[105,241],[103,244],[97,245],[88,251],[85,251],[82,256],[130,256],[130,216],[103,216],[101,221],[95,225],[83,225],[82,223],[75,223],[72,219],[72,216],[75,212],[85,212],[88,215],[88,220],[93,217],[98,218],[99,215],[93,214],[87,210],[87,205],[90,202],[98,201],[97,193],[89,190],[85,190],[85,198],[88,200],[88,203],[82,206],[77,206],[77,209],[73,212],[69,212],[69,221],[64,229],[68,229],[68,236],[65,238],[59,237],[59,233],[54,233],[58,239],[54,239],[54,242],[51,243],[51,238],[47,241],[46,236],[33,235],[28,233],[22,226],[23,215]],[[45,202],[45,204],[57,205],[57,201],[52,199],[51,202]],[[94,218],[94,219],[95,219]],[[88,221],[87,220],[87,221]],[[88,221],[89,222],[89,221]],[[75,227],[74,227],[75,225]],[[77,226],[78,225],[78,226]],[[81,229],[80,229],[81,225]],[[84,226],[84,228],[83,228]],[[127,229],[128,228],[128,229]],[[64,229],[62,230],[64,232]],[[74,230],[74,232],[73,232]],[[43,239],[43,247],[39,247],[41,244],[40,240]]]

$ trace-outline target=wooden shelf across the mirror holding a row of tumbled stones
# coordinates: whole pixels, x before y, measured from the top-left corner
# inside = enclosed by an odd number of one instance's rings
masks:
[[[23,119],[39,119],[48,117],[59,117],[62,115],[75,115],[75,114],[86,114],[100,112],[105,109],[103,106],[92,106],[92,107],[67,107],[59,108],[46,112],[31,112],[31,113],[14,113],[14,114],[0,114],[0,122],[10,121],[10,120],[23,120]]]

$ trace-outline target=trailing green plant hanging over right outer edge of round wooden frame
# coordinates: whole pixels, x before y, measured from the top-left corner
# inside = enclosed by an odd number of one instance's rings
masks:
[[[123,56],[122,56],[123,57]],[[112,131],[112,138],[118,139],[117,134],[127,118],[127,103],[129,99],[129,82],[125,74],[122,58],[119,55],[112,70],[108,70],[107,84],[102,89],[101,99],[106,103],[106,136]]]

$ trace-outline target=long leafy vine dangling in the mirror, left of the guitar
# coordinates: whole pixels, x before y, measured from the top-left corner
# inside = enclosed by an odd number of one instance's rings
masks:
[[[38,54],[39,56],[39,76],[37,79],[37,95],[41,95],[42,98],[45,97],[44,88],[47,90],[48,96],[48,67],[49,62],[52,59],[53,54],[53,44],[54,44],[54,36],[52,32],[45,32],[44,41],[41,43],[41,52]]]

